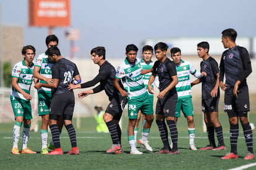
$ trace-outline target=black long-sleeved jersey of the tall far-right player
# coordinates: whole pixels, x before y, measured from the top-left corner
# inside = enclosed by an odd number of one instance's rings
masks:
[[[252,66],[247,49],[241,46],[227,49],[223,52],[220,62],[220,81],[223,81],[224,75],[228,89],[226,94],[233,94],[234,84],[237,80],[241,81],[238,89],[247,87],[246,78],[252,72]]]

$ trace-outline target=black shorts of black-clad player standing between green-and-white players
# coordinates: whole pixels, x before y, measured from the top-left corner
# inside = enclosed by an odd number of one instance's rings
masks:
[[[166,95],[158,98],[156,102],[156,114],[164,114],[164,117],[174,117],[177,104],[177,94]]]

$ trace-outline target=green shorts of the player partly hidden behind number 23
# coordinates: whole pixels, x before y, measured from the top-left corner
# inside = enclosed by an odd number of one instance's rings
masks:
[[[38,115],[42,116],[45,114],[49,114],[49,107],[51,105],[51,98],[53,97],[53,93],[38,93]]]

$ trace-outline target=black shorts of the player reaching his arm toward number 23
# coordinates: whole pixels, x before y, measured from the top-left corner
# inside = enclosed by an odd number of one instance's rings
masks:
[[[114,120],[119,121],[121,119],[122,111],[124,110],[126,103],[127,103],[126,98],[122,98],[122,97],[113,98],[113,100],[111,100],[110,103],[108,104],[108,107],[106,108],[105,113],[111,114]]]

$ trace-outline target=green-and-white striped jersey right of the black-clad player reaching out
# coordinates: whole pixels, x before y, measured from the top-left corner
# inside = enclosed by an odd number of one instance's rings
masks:
[[[127,91],[129,99],[139,98],[147,92],[143,83],[142,68],[140,62],[135,60],[135,64],[130,64],[127,59],[117,68],[116,79],[121,79],[124,89]]]

